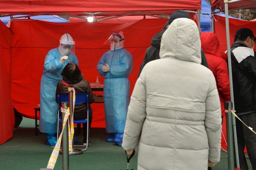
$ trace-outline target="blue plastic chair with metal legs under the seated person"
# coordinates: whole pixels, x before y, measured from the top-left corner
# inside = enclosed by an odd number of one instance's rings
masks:
[[[57,103],[60,106],[60,103],[69,103],[69,93],[66,94],[58,94],[57,97]],[[81,103],[87,103],[87,119],[82,119],[82,120],[74,120],[74,123],[81,124],[81,123],[87,123],[87,145],[74,145],[74,146],[80,146],[80,147],[86,147],[88,146],[89,143],[89,96],[86,93],[75,93],[75,105],[81,104]],[[58,109],[58,118],[59,118],[59,109]],[[62,119],[59,118],[59,123],[62,124]],[[61,126],[62,127],[62,126]],[[58,124],[59,128],[59,124]],[[59,132],[59,129],[57,130]]]

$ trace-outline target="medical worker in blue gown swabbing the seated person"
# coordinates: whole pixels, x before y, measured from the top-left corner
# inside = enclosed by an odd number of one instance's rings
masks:
[[[40,86],[40,122],[39,130],[47,137],[46,145],[54,146],[57,142],[57,110],[55,93],[58,81],[63,68],[69,63],[74,62],[78,65],[78,60],[74,49],[75,42],[68,34],[60,38],[59,47],[51,49],[44,60],[43,76]]]

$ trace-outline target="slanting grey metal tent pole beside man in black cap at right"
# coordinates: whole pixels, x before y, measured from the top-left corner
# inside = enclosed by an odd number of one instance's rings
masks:
[[[231,54],[230,54],[230,38],[229,38],[229,22],[228,22],[228,0],[224,0],[225,4],[225,21],[226,21],[226,35],[227,35],[227,52],[228,52],[228,71],[229,71],[229,83],[230,83],[230,97],[231,101],[233,103],[232,110],[234,110],[234,92],[233,92],[233,78],[232,78],[232,66],[231,66]],[[230,114],[230,113],[229,113]],[[229,122],[231,123],[231,122]],[[233,134],[234,134],[234,146],[235,146],[235,152],[236,152],[236,161],[237,161],[237,168],[240,167],[239,165],[239,158],[238,158],[238,146],[237,146],[237,130],[236,130],[236,118],[232,114],[232,125],[233,125]],[[228,141],[233,138],[228,138]],[[228,152],[231,152],[228,154],[229,156],[229,170],[234,169],[234,156],[233,156],[233,142],[228,142],[230,150]],[[232,147],[232,149],[231,149]]]

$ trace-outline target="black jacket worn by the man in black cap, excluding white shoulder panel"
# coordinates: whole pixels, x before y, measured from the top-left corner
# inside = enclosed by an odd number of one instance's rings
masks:
[[[231,46],[231,65],[234,91],[234,106],[239,115],[256,111],[256,53],[240,63],[233,54],[237,47],[247,47],[235,42]],[[248,48],[248,47],[247,47]]]

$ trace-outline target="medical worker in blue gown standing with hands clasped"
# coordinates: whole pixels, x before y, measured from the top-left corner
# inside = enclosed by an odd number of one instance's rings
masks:
[[[107,142],[122,145],[128,105],[130,103],[130,81],[133,59],[124,48],[122,31],[113,33],[105,44],[110,50],[105,52],[98,62],[97,69],[104,78],[104,109]]]

